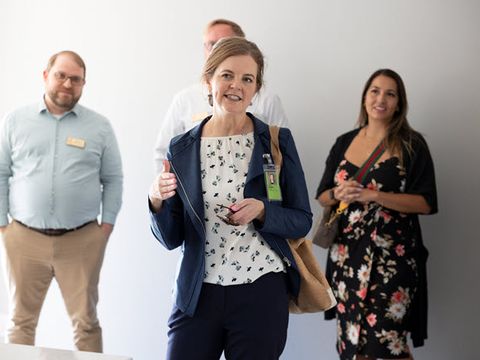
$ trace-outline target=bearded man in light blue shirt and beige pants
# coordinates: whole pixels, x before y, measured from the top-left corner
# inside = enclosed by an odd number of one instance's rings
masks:
[[[43,78],[41,102],[8,114],[0,132],[0,239],[11,308],[6,340],[34,345],[55,278],[76,348],[102,352],[98,280],[122,201],[120,152],[109,121],[77,103],[85,85],[78,54],[53,55]]]

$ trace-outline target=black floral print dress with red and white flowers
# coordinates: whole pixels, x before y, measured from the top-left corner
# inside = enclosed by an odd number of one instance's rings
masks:
[[[343,160],[338,185],[358,167]],[[384,192],[405,191],[405,170],[397,157],[375,164],[364,186]],[[328,262],[338,300],[337,350],[341,359],[356,354],[405,358],[407,314],[417,286],[415,238],[411,218],[378,203],[352,203],[340,218],[339,236]]]

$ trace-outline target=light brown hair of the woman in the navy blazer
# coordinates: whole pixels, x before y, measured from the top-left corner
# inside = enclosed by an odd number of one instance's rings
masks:
[[[213,77],[220,64],[231,56],[249,55],[257,63],[257,91],[263,85],[264,60],[257,45],[245,38],[234,36],[220,39],[212,49],[203,66],[202,80],[207,83]]]

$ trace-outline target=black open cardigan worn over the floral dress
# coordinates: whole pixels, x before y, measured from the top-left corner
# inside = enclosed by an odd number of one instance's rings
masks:
[[[345,151],[358,134],[360,129],[349,131],[337,138],[328,155],[325,171],[317,189],[316,198],[327,189],[335,186],[334,175],[338,164],[343,160]],[[435,185],[435,173],[433,169],[433,161],[428,150],[428,145],[417,132],[412,136],[413,153],[411,155],[405,150],[403,152],[403,161],[407,171],[407,182],[405,193],[422,195],[430,205],[430,214],[435,214],[437,208],[437,191]],[[422,241],[422,232],[417,214],[410,214],[412,217],[414,231],[417,240],[417,268],[419,283],[417,294],[415,295],[410,308],[408,319],[408,330],[412,338],[413,346],[423,346],[424,340],[427,338],[427,312],[428,312],[428,294],[427,294],[427,258],[428,250]],[[332,279],[331,269],[327,266],[326,276],[329,281]],[[335,318],[335,309],[325,312],[325,319]]]

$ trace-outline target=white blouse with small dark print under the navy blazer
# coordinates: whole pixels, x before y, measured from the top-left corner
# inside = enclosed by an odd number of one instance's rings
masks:
[[[200,169],[207,230],[204,282],[224,286],[246,284],[269,272],[285,271],[279,256],[252,223],[233,226],[217,216],[228,214],[220,205],[230,206],[243,200],[253,146],[253,132],[201,138]]]

